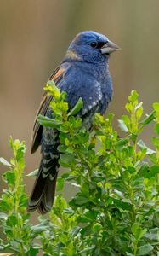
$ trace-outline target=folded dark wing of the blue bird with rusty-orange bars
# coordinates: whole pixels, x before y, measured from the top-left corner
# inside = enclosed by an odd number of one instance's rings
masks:
[[[57,67],[54,71],[54,73],[51,75],[49,80],[54,81],[56,85],[58,85],[63,78],[63,74],[65,72],[65,69],[62,67]],[[48,96],[47,92],[44,92],[42,101],[40,103],[40,107],[37,110],[36,119],[34,121],[33,125],[33,135],[32,135],[32,144],[31,144],[31,154],[34,153],[39,145],[41,144],[41,138],[42,138],[42,132],[43,132],[43,126],[40,125],[37,122],[37,116],[39,114],[45,115],[47,113],[49,103],[52,100],[52,96]]]

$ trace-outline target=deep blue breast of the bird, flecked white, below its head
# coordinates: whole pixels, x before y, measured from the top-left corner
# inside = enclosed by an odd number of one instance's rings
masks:
[[[66,91],[69,107],[73,108],[79,97],[82,97],[82,114],[95,107],[104,113],[112,95],[111,76],[108,72],[105,76],[106,65],[76,61],[66,62],[64,67],[64,79],[58,87]]]

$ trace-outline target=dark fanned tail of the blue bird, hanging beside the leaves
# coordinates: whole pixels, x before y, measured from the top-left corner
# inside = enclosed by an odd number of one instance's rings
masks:
[[[52,166],[54,177],[49,174],[43,177],[43,160],[41,160],[37,178],[28,201],[28,212],[33,212],[37,209],[41,214],[44,214],[51,210],[54,203],[56,179],[58,175],[56,168],[56,165]]]

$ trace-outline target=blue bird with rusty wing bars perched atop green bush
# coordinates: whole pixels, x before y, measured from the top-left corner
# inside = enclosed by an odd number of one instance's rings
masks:
[[[81,97],[83,108],[80,111],[82,125],[86,129],[92,126],[95,113],[105,113],[113,93],[109,72],[109,58],[119,47],[105,35],[94,31],[77,34],[69,45],[63,61],[49,80],[54,81],[60,91],[66,92],[66,102],[71,110]],[[44,92],[37,111],[54,118],[49,104],[54,99]],[[59,172],[60,152],[59,132],[43,127],[35,119],[31,144],[31,154],[41,146],[41,162],[37,172],[27,210],[37,210],[41,214],[50,212],[54,204],[56,179]]]

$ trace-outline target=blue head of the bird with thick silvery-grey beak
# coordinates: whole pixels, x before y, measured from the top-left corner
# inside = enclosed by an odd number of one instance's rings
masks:
[[[105,62],[119,47],[104,35],[93,31],[77,34],[71,42],[66,58],[77,61]]]

